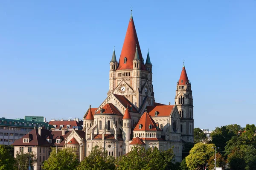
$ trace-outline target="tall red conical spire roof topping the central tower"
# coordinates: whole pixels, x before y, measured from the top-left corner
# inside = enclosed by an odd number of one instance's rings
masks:
[[[125,70],[125,69],[133,68],[133,60],[134,60],[134,54],[136,52],[136,44],[137,44],[139,58],[141,61],[143,61],[142,54],[140,51],[139,40],[138,40],[136,29],[134,26],[134,20],[133,20],[132,14],[131,14],[128,28],[126,31],[126,35],[125,35],[125,41],[122,46],[122,51],[121,51],[121,55],[120,55],[120,59],[119,59],[119,66],[118,66],[117,70]],[[125,57],[127,58],[126,63],[124,63]],[[146,70],[143,62],[141,62],[140,68],[142,70]]]

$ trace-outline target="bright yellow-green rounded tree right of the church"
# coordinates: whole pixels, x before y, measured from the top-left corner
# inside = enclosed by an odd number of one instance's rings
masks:
[[[214,155],[214,144],[197,143],[189,151],[189,156],[186,157],[186,164],[189,170],[201,170],[204,168],[208,159]]]

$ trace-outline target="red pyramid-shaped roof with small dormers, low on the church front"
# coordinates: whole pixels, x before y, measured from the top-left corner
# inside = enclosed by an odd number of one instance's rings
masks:
[[[142,125],[141,129],[139,128],[140,124]],[[149,125],[151,125],[151,129],[149,129]],[[139,122],[137,123],[136,127],[134,128],[134,131],[161,131],[161,130],[157,128],[156,123],[151,118],[151,116],[149,116],[148,112],[144,112]]]

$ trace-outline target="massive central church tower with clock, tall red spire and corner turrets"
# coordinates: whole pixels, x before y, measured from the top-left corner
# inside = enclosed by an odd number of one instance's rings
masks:
[[[144,63],[132,11],[119,62],[115,51],[110,62],[108,94],[111,93],[125,96],[140,113],[144,112],[146,106],[154,105],[149,52]]]

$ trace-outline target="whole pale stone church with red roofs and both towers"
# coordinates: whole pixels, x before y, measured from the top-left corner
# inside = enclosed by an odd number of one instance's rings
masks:
[[[144,61],[131,13],[119,62],[113,50],[107,98],[84,115],[85,155],[95,146],[122,156],[134,145],[168,150],[181,161],[182,144],[193,142],[191,83],[183,65],[175,105],[155,102],[149,52]]]

